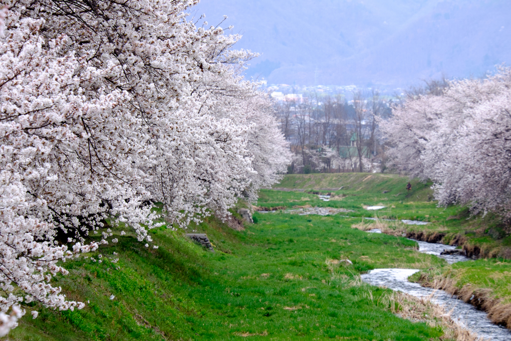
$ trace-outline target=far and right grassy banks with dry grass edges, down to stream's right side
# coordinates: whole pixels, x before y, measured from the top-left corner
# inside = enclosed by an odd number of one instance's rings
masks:
[[[511,236],[509,227],[499,217],[471,216],[467,208],[451,206],[438,208],[432,200],[431,184],[412,181],[412,191],[406,191],[408,178],[387,174],[314,174],[287,175],[280,185],[282,190],[292,190],[287,205],[276,196],[271,204],[292,207],[295,202],[307,206],[349,208],[354,212],[344,213],[351,217],[379,217],[375,222],[363,220],[353,227],[368,230],[378,225],[387,234],[402,235],[430,242],[460,245],[469,256],[481,259],[430,268],[416,274],[414,280],[423,285],[445,289],[459,295],[489,312],[489,317],[498,324],[511,327]],[[321,201],[304,196],[307,192],[330,191],[334,200]],[[385,192],[385,193],[384,193]],[[274,196],[272,196],[274,197]],[[297,198],[300,198],[299,200]],[[307,199],[307,200],[306,200]],[[294,201],[296,200],[296,201]],[[367,211],[367,206],[385,206],[379,211]],[[396,219],[398,221],[385,221]],[[406,225],[400,219],[421,220],[427,225]]]

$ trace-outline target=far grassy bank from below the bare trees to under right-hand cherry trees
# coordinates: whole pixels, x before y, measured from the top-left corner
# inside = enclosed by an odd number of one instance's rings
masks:
[[[291,174],[275,188],[284,191],[271,199],[261,193],[262,207],[318,206],[346,208],[352,217],[379,217],[429,222],[427,225],[392,224],[400,232],[423,232],[421,239],[434,236],[444,243],[464,246],[469,255],[511,259],[511,228],[499,217],[471,216],[466,207],[437,207],[433,200],[431,183],[412,180],[412,190],[406,190],[408,178],[396,174]],[[331,201],[324,202],[312,193],[331,193]],[[367,211],[367,206],[385,206],[378,211]]]

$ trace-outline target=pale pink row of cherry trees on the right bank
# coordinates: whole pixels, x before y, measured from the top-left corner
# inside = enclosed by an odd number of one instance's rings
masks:
[[[434,181],[440,204],[511,218],[511,69],[437,83],[380,122],[394,164]]]

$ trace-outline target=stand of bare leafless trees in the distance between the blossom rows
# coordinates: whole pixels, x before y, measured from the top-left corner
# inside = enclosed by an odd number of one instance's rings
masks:
[[[354,172],[367,171],[369,151],[374,155],[379,152],[377,118],[384,116],[388,106],[378,90],[373,90],[367,98],[360,91],[354,93],[350,104],[341,95],[321,97],[314,93],[299,104],[279,103],[277,111],[284,135],[292,151],[300,155],[305,170]],[[316,155],[325,148],[330,154],[337,153],[335,162],[332,157],[327,160]],[[325,162],[319,167],[316,159]]]

